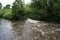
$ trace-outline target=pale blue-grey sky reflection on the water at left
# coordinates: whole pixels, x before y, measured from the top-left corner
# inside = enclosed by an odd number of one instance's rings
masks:
[[[13,38],[11,22],[0,19],[0,40],[10,40]],[[12,39],[13,40],[13,39]]]

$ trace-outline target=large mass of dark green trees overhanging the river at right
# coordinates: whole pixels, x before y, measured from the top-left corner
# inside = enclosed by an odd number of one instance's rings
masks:
[[[32,19],[60,22],[60,0],[32,0],[30,8]]]

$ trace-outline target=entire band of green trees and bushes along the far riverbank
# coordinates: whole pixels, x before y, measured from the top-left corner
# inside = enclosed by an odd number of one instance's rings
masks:
[[[24,0],[15,0],[12,8],[10,5],[2,8],[0,3],[0,17],[14,20],[25,20],[27,18],[60,22],[60,0],[32,0],[24,4]]]

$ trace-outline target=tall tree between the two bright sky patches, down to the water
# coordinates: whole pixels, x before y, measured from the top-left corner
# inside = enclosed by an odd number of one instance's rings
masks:
[[[15,19],[25,19],[24,5],[22,0],[15,0],[12,6]]]

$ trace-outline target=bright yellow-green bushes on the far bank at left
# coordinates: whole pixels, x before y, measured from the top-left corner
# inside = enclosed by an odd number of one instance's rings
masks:
[[[13,19],[13,13],[11,9],[1,9],[0,18]]]

